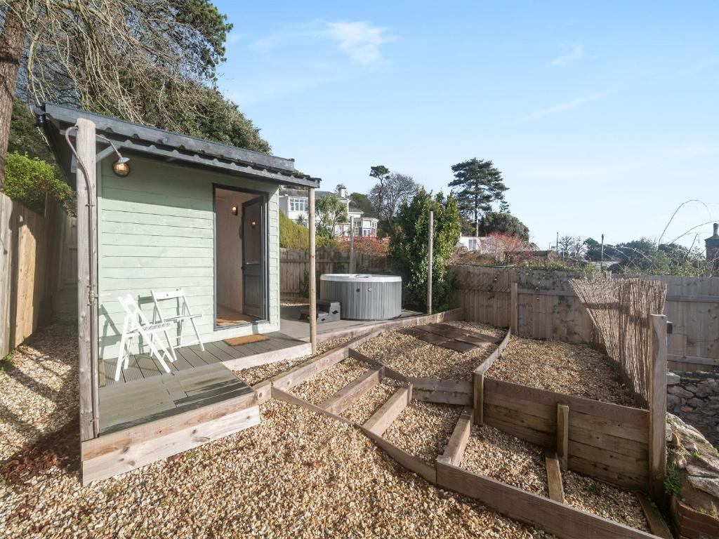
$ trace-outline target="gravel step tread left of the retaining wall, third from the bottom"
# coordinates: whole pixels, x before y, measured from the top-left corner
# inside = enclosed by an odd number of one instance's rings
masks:
[[[412,456],[434,464],[444,453],[462,407],[413,400],[383,434],[383,438]]]

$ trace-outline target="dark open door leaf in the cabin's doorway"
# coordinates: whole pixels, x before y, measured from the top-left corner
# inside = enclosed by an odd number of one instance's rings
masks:
[[[265,318],[265,200],[242,203],[242,311]]]

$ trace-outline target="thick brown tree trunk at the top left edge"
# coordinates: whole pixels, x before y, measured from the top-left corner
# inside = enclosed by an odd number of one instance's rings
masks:
[[[22,20],[8,8],[5,26],[0,34],[0,189],[5,185],[5,156],[10,137],[12,100],[17,86],[17,71],[24,46]]]

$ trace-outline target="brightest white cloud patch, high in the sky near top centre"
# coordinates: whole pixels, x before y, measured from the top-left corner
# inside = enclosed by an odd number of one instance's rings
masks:
[[[371,65],[382,60],[382,45],[397,39],[386,32],[385,28],[362,21],[326,22],[316,36],[336,41],[339,49],[354,62]]]

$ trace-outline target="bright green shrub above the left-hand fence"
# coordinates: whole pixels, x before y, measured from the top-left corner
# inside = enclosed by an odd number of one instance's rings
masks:
[[[75,215],[75,192],[65,183],[55,165],[17,152],[5,161],[4,193],[37,213],[45,213],[47,197],[55,198],[70,215]]]

